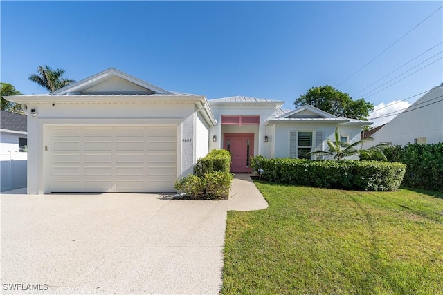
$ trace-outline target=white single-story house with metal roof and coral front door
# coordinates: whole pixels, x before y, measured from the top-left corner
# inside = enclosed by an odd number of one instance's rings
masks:
[[[361,120],[252,97],[208,100],[166,91],[109,68],[44,95],[6,97],[28,111],[28,193],[172,192],[210,149],[228,149],[233,172],[254,155],[322,150],[337,124],[360,139]]]

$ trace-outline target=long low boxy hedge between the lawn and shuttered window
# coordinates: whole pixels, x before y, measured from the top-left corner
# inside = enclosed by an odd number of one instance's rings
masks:
[[[406,171],[401,163],[267,159],[260,155],[252,159],[251,166],[270,182],[361,191],[398,191]]]

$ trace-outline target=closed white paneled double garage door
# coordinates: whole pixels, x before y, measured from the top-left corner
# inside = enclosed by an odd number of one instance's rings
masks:
[[[51,129],[51,191],[172,192],[177,126]]]

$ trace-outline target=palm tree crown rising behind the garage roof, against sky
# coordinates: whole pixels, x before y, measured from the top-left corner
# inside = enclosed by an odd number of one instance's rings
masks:
[[[39,66],[37,74],[29,75],[29,80],[46,88],[49,92],[54,92],[75,82],[75,80],[64,78],[65,72],[66,70],[62,68],[53,70],[48,66]]]

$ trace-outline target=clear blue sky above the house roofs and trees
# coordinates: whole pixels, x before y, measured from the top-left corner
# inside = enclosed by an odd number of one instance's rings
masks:
[[[325,84],[354,99],[363,95],[384,106],[443,82],[442,1],[1,1],[0,5],[0,79],[25,94],[46,92],[28,81],[41,64],[64,68],[65,77],[75,80],[114,67],[170,91],[208,99],[233,95],[280,99],[287,102],[286,108],[293,108],[293,101],[307,89]],[[419,71],[390,86],[415,70]],[[388,82],[397,75],[401,76]],[[395,108],[400,106],[404,104]],[[385,113],[389,110],[384,108]]]

